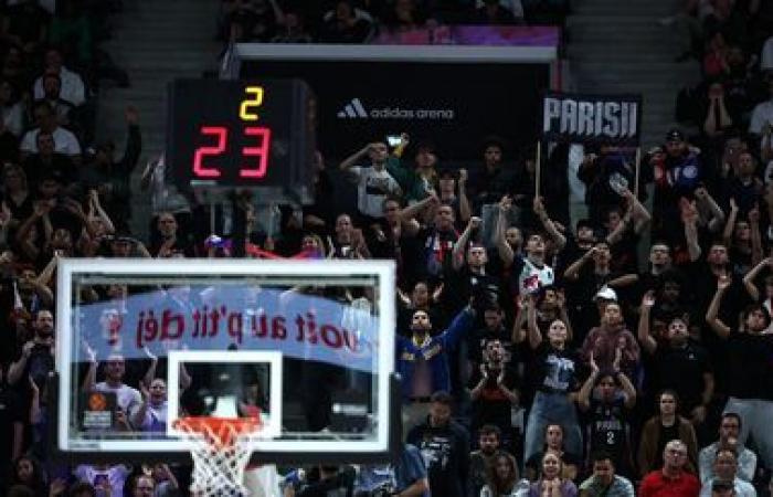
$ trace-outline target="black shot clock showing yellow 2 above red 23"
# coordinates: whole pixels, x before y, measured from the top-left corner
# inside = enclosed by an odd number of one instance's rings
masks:
[[[170,84],[167,160],[178,187],[254,188],[304,197],[316,103],[300,80]]]

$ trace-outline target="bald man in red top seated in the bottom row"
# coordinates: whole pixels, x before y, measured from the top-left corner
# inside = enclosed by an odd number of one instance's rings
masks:
[[[685,470],[687,446],[684,442],[673,440],[663,451],[664,465],[642,480],[639,497],[698,497],[700,482]]]

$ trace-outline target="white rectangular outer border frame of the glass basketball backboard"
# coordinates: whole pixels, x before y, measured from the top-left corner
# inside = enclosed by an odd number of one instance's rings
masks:
[[[374,414],[380,420],[389,419],[388,423],[380,423],[378,427],[378,442],[366,446],[364,448],[353,447],[353,444],[362,442],[350,441],[317,441],[307,442],[305,446],[299,446],[297,441],[262,441],[256,452],[253,454],[251,463],[304,463],[304,462],[340,462],[340,463],[379,463],[389,461],[400,443],[401,431],[400,423],[394,420],[400,417],[400,389],[393,372],[394,364],[394,266],[392,262],[360,262],[360,261],[320,261],[299,262],[299,261],[234,261],[234,260],[165,260],[162,264],[152,264],[155,260],[63,260],[59,267],[57,288],[60,298],[57,303],[60,308],[56,313],[57,340],[63,343],[72,343],[76,337],[73,337],[73,330],[70,327],[73,316],[70,311],[72,299],[72,276],[78,272],[87,274],[110,275],[130,275],[136,274],[180,274],[186,268],[191,274],[215,274],[224,275],[248,275],[251,271],[254,274],[264,274],[265,272],[277,272],[278,274],[290,274],[305,276],[309,274],[318,275],[329,272],[330,275],[350,274],[371,274],[374,267],[378,267],[380,288],[379,288],[379,309],[380,309],[380,327],[379,341],[381,343],[379,352],[379,399],[378,409]],[[159,261],[160,262],[160,261]],[[366,264],[362,264],[366,263]],[[152,264],[152,271],[147,271],[147,266]],[[252,268],[250,267],[252,266]],[[156,269],[159,269],[158,272]],[[385,347],[383,347],[385,345]],[[56,373],[52,376],[50,381],[50,409],[56,423],[51,425],[51,452],[57,458],[70,463],[97,463],[97,462],[120,462],[120,463],[148,463],[148,462],[179,462],[188,463],[191,461],[188,447],[184,442],[180,441],[179,446],[170,444],[167,441],[162,446],[155,446],[153,440],[142,440],[141,445],[133,450],[126,450],[123,446],[116,446],[115,450],[105,444],[84,443],[83,446],[73,447],[68,443],[68,433],[63,433],[63,430],[68,430],[71,419],[70,400],[63,399],[64,395],[59,395],[59,392],[72,391],[78,385],[73,384],[72,374],[72,350],[71,347],[56,348]],[[381,367],[383,366],[383,370]],[[63,376],[64,372],[64,376]],[[396,411],[395,411],[396,406]],[[395,417],[396,416],[396,417]],[[176,442],[176,441],[172,441]],[[296,444],[295,450],[288,451],[288,445]],[[336,444],[338,448],[331,448],[330,444]],[[348,446],[345,446],[348,445]],[[171,448],[171,450],[170,450]]]

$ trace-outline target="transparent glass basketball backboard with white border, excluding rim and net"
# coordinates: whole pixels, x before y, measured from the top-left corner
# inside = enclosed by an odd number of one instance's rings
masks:
[[[258,452],[389,451],[393,263],[63,260],[57,277],[59,451],[187,452],[174,419],[256,412]]]

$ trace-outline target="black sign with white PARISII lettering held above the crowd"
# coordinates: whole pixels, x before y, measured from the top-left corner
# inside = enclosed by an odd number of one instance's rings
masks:
[[[586,95],[549,92],[542,101],[542,136],[548,140],[612,141],[637,146],[640,95]]]

